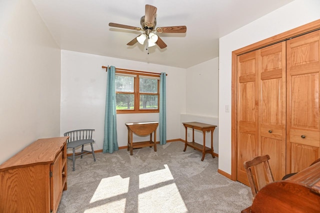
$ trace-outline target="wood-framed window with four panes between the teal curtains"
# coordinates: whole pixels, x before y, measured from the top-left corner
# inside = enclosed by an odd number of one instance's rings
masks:
[[[159,112],[159,79],[154,74],[116,71],[116,112]]]

